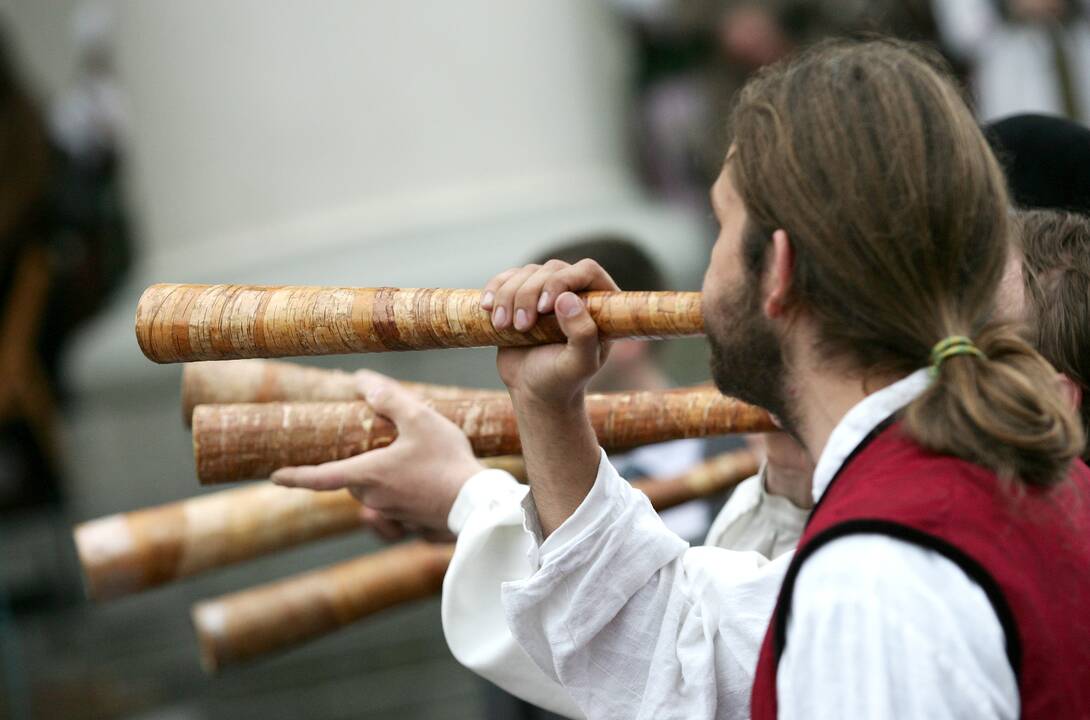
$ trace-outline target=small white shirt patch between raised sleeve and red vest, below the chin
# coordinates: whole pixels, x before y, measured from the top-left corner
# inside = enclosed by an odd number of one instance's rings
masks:
[[[762,468],[730,493],[704,545],[753,550],[772,560],[795,549],[809,515],[787,498],[768,495]]]

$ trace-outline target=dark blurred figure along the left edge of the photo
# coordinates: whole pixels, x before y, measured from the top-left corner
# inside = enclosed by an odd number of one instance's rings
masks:
[[[77,28],[86,26],[76,17]],[[112,121],[97,109],[104,103],[71,99],[87,97],[87,77],[109,65],[105,26],[84,42],[84,70],[52,122],[0,35],[0,510],[32,511],[4,517],[9,558],[21,566],[9,562],[5,573],[17,577],[0,582],[12,586],[15,605],[75,595],[61,549],[60,365],[75,329],[102,307],[130,263]],[[48,550],[43,530],[53,536]]]

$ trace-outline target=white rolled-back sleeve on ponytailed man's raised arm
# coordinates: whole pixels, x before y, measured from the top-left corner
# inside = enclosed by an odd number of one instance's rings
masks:
[[[526,526],[540,540],[530,496]],[[749,717],[790,556],[689,549],[604,453],[591,492],[504,584],[519,644],[589,718]]]

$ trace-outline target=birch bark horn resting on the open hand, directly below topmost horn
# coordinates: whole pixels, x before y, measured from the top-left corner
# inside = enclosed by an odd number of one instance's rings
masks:
[[[427,402],[461,427],[479,456],[521,452],[509,398]],[[714,388],[588,395],[586,413],[607,451],[774,429],[765,411]],[[362,401],[199,405],[193,413],[193,453],[202,485],[262,479],[281,467],[350,457],[396,438],[393,424]]]

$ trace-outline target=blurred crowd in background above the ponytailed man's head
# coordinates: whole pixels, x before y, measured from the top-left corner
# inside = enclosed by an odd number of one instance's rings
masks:
[[[653,193],[706,211],[730,100],[746,78],[826,37],[927,44],[978,115],[1090,119],[1087,0],[615,0],[637,38],[635,133]]]

